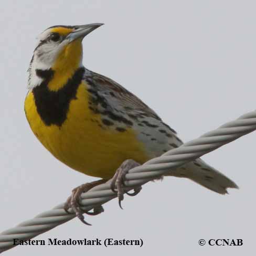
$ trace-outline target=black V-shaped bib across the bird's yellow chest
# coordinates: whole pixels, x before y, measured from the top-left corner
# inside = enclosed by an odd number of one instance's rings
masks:
[[[37,112],[45,125],[61,126],[67,119],[69,104],[76,99],[77,89],[83,79],[84,68],[79,68],[67,83],[58,91],[50,91],[48,83],[54,76],[54,71],[36,70],[37,76],[44,79],[33,89]]]

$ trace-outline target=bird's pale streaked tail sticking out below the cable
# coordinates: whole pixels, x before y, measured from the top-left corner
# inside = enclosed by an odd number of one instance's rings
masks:
[[[238,188],[231,179],[201,159],[183,165],[174,170],[171,176],[186,177],[219,194],[226,194],[227,188]]]

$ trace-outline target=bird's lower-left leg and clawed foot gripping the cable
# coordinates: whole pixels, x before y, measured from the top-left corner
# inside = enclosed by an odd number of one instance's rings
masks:
[[[86,225],[90,225],[88,222],[84,220],[83,214],[86,213],[88,215],[97,215],[100,214],[101,212],[104,211],[102,206],[96,206],[93,208],[93,212],[83,212],[79,205],[79,198],[82,193],[87,192],[91,188],[105,183],[105,179],[100,179],[100,180],[95,180],[95,182],[90,182],[90,183],[84,183],[81,186],[78,186],[72,190],[71,196],[68,197],[67,201],[65,202],[64,205],[64,210],[69,212],[68,209],[71,208],[73,209],[74,213],[76,216]]]

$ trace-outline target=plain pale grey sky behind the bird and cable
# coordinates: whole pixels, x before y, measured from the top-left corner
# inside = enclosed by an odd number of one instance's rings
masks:
[[[54,2],[54,3],[52,3]],[[255,109],[255,1],[5,1],[1,4],[1,219],[16,226],[94,180],[58,162],[24,113],[36,37],[52,25],[105,23],[83,41],[84,66],[138,95],[183,141]],[[138,239],[137,247],[24,246],[6,255],[249,255],[255,251],[255,141],[249,134],[202,158],[239,190],[221,196],[190,180],[149,183],[124,210],[75,219],[37,239]],[[243,239],[200,247],[199,239]]]

